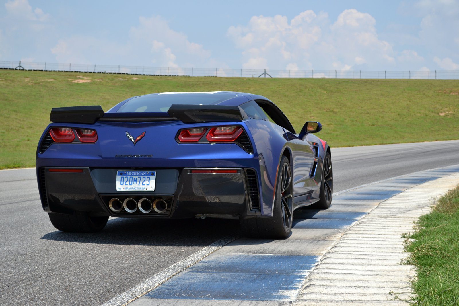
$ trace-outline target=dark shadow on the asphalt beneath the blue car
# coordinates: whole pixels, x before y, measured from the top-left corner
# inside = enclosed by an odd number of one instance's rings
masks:
[[[229,219],[114,218],[97,233],[54,231],[41,239],[108,245],[207,246],[240,230]]]

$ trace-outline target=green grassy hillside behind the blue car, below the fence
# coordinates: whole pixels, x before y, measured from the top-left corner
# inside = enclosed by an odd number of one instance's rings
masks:
[[[77,77],[81,76],[81,77]],[[90,83],[73,83],[88,78]],[[138,78],[138,79],[134,79]],[[264,95],[299,130],[320,121],[331,146],[457,139],[459,81],[149,77],[0,71],[0,168],[33,167],[52,107],[101,105],[164,91],[231,90]]]

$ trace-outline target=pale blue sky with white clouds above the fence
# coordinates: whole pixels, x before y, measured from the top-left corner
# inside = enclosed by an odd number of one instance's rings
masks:
[[[0,60],[459,70],[459,0],[3,0]]]

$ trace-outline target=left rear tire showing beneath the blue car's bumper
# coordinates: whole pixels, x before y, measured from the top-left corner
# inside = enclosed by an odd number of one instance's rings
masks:
[[[73,215],[48,213],[54,227],[63,232],[94,233],[105,227],[108,216],[91,217],[87,213],[73,212]]]

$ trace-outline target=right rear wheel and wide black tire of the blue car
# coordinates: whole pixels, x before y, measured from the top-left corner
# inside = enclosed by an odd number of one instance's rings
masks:
[[[282,156],[277,173],[273,216],[241,219],[242,232],[247,237],[284,239],[290,235],[293,220],[293,182],[290,162]]]

